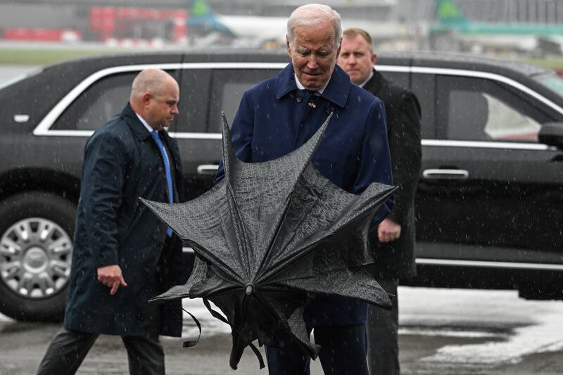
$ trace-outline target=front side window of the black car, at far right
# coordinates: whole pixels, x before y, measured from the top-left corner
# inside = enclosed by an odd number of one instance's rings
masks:
[[[438,101],[445,139],[537,142],[540,123],[548,121],[524,94],[491,80],[441,77]]]

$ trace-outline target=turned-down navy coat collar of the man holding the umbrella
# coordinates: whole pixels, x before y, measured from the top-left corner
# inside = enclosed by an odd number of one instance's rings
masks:
[[[350,84],[350,77],[339,65],[336,65],[327,88],[322,91],[320,96],[336,104],[336,106],[344,107],[350,94]],[[293,78],[293,65],[290,63],[275,77],[274,92],[279,100],[296,89],[297,85]]]

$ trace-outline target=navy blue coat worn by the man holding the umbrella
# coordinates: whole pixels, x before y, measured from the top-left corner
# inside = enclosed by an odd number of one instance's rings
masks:
[[[293,66],[246,91],[232,122],[236,156],[245,162],[279,158],[303,145],[334,115],[313,156],[327,177],[350,193],[372,182],[393,184],[384,103],[350,83],[338,65],[320,96],[298,90]],[[223,176],[222,165],[215,181]],[[379,223],[391,211],[388,202],[377,212]],[[305,309],[308,326],[362,324],[367,305],[344,298],[317,297]]]

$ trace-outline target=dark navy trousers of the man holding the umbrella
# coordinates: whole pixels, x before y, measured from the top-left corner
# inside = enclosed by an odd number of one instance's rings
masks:
[[[310,333],[310,330],[309,330]],[[325,375],[367,375],[365,325],[315,327]],[[270,375],[310,375],[310,357],[290,339],[266,347]]]

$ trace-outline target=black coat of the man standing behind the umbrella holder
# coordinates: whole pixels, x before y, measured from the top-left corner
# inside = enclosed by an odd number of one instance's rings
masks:
[[[379,243],[377,228],[370,231],[370,241],[376,258],[376,277],[404,279],[416,274],[415,267],[415,193],[420,174],[420,104],[412,92],[398,87],[374,70],[364,85],[385,103],[387,134],[391,148],[395,206],[388,219],[401,226],[400,238]]]

